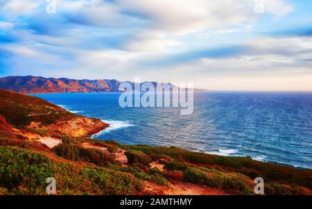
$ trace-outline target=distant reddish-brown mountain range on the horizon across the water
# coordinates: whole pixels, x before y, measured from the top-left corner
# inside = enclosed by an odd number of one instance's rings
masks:
[[[44,78],[40,76],[8,76],[6,78],[0,78],[0,89],[23,94],[119,92],[119,85],[121,83],[121,81],[114,79],[76,80],[69,78]],[[157,82],[152,83],[155,86],[157,85]]]

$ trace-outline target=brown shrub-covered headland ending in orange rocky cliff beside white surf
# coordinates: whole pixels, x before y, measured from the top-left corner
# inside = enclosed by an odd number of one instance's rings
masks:
[[[0,90],[0,115],[19,129],[85,137],[108,125],[100,119],[83,117],[37,97]]]

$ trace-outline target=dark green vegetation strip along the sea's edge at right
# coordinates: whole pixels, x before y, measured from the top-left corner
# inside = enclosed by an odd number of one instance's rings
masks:
[[[196,153],[177,147],[152,147],[148,145],[124,145],[124,149],[131,149],[146,153],[148,156],[165,155],[184,162],[168,163],[166,169],[184,171],[188,163],[206,165],[207,167],[225,167],[229,172],[243,174],[252,179],[261,176],[266,183],[279,182],[292,187],[302,186],[312,189],[312,170],[296,169],[270,162],[259,162],[251,158],[214,156],[206,153]]]

